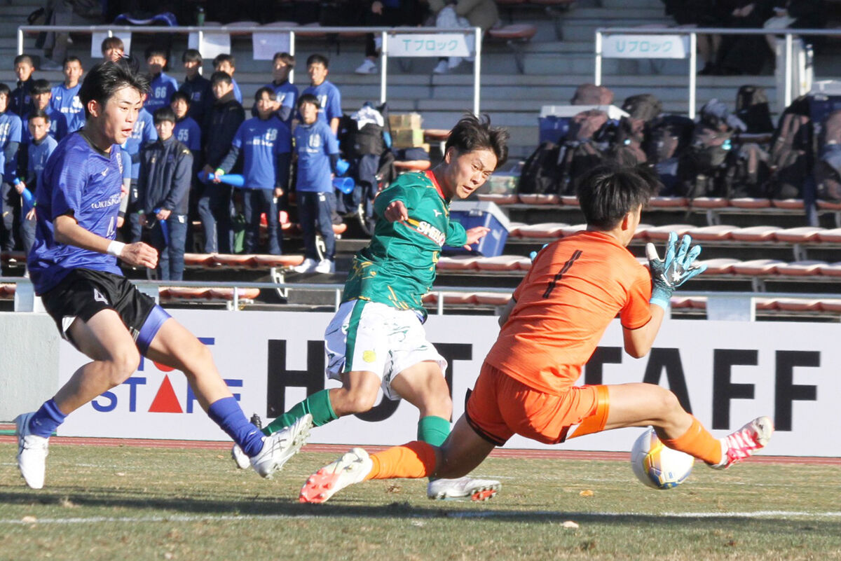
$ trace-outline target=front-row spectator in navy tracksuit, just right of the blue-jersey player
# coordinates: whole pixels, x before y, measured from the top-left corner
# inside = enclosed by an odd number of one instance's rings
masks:
[[[158,139],[140,151],[140,224],[148,228],[151,245],[161,255],[158,278],[182,281],[193,155],[172,134],[175,113],[171,107],[156,110],[154,119]]]

